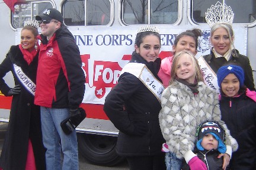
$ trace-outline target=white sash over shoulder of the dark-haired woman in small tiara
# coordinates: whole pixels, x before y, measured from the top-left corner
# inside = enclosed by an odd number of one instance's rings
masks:
[[[124,66],[123,70],[121,70],[120,75],[125,72],[133,74],[133,76],[136,76],[140,81],[142,81],[142,83],[151,91],[152,94],[154,94],[160,103],[160,98],[165,88],[163,84],[153,76],[145,64],[128,63]]]

